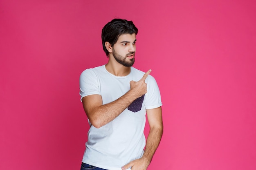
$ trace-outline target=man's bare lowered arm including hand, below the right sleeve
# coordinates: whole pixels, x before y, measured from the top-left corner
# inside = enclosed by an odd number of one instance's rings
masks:
[[[131,167],[132,170],[146,170],[155,154],[163,134],[162,108],[147,109],[148,124],[150,131],[148,134],[146,148],[140,159],[131,161],[122,167],[126,170]]]

